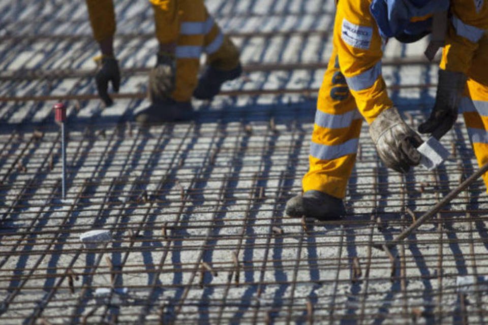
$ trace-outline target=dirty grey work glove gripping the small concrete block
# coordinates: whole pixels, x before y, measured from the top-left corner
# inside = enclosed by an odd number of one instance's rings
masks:
[[[370,125],[370,136],[383,163],[406,173],[420,163],[417,147],[422,139],[402,119],[395,107],[384,110]]]

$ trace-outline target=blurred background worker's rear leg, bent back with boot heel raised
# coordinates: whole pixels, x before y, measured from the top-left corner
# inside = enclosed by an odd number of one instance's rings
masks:
[[[206,68],[193,95],[202,100],[212,99],[227,80],[238,78],[242,73],[239,50],[228,36],[222,34],[217,23],[207,13],[204,51]]]

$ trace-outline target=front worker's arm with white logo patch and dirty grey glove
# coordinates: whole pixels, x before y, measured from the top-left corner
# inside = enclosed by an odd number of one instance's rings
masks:
[[[368,1],[340,1],[334,46],[357,109],[370,124],[370,136],[386,166],[407,172],[418,165],[420,137],[404,122],[388,98],[381,76],[382,39]]]

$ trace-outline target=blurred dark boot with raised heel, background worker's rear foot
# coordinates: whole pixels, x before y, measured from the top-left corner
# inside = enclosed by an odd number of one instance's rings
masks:
[[[224,82],[234,80],[241,74],[242,67],[240,63],[236,68],[227,71],[207,66],[198,80],[193,96],[199,100],[211,100],[220,92],[220,87]]]

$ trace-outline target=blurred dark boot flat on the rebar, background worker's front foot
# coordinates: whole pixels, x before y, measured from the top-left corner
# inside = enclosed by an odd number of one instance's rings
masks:
[[[193,106],[190,101],[176,102],[169,98],[152,103],[135,116],[135,120],[139,125],[186,121],[192,118]]]

